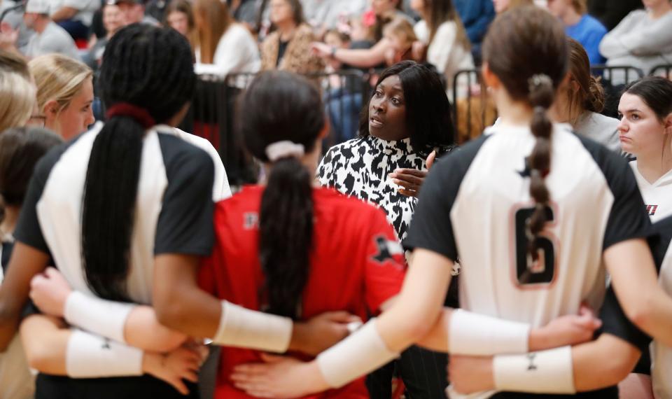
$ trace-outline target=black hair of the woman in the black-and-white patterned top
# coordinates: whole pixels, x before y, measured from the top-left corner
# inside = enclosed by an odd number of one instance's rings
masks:
[[[429,155],[436,146],[454,144],[455,128],[450,102],[435,71],[414,61],[402,61],[381,73],[376,87],[390,76],[399,76],[404,90],[406,130],[414,151]],[[371,94],[369,102],[375,91]],[[359,120],[360,137],[369,136],[369,102],[364,104]]]

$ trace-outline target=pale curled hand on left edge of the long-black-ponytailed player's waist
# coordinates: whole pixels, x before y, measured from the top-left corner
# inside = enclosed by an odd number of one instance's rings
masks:
[[[50,316],[63,317],[71,292],[68,282],[55,267],[47,267],[30,281],[30,299],[43,314]]]

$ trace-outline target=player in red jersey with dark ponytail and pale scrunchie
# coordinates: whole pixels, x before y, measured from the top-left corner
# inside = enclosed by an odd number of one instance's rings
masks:
[[[265,162],[268,179],[216,205],[216,244],[201,286],[228,302],[295,320],[335,310],[363,320],[377,314],[401,288],[403,251],[381,210],[313,188],[328,126],[320,94],[299,76],[265,73],[240,105],[241,135]],[[259,351],[223,348],[216,398],[250,397],[230,374],[255,361],[262,361]],[[360,378],[316,397],[368,393]]]

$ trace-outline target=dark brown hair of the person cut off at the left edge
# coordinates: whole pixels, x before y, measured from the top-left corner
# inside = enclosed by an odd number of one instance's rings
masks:
[[[0,134],[0,196],[4,205],[20,207],[35,165],[63,139],[41,127],[14,127]]]

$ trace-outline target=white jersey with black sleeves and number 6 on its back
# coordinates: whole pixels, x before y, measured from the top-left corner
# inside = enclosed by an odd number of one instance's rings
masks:
[[[535,140],[529,127],[498,125],[439,160],[404,244],[459,258],[464,309],[540,326],[575,314],[584,301],[599,309],[603,251],[646,237],[650,221],[626,160],[556,124],[545,179],[549,223],[540,261],[531,262],[526,158]]]

